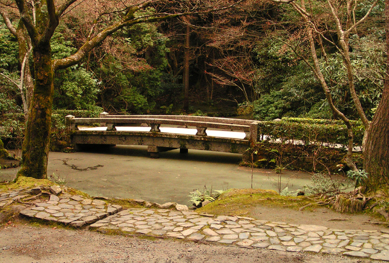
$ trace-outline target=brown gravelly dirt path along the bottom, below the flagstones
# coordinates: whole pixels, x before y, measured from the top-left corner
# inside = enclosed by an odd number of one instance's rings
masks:
[[[371,261],[326,254],[115,236],[86,229],[35,227],[22,221],[0,229],[0,262],[367,263]]]

